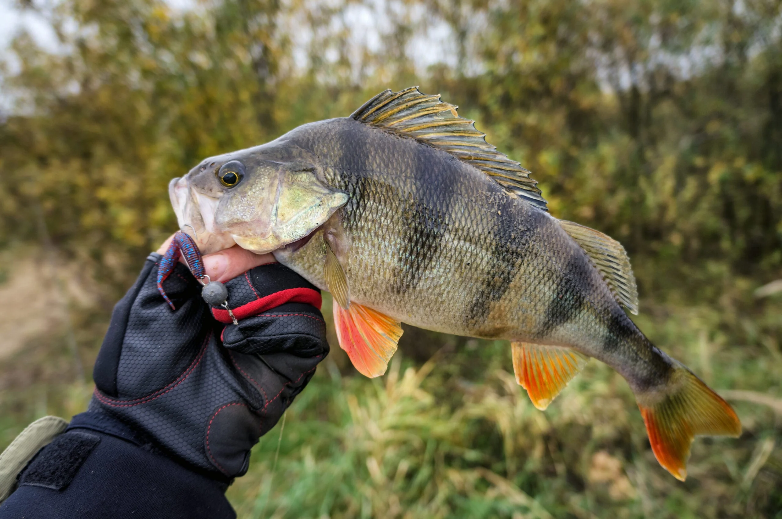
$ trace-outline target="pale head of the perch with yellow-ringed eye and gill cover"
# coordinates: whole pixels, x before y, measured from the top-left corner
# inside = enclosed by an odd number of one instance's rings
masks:
[[[274,251],[306,238],[347,202],[325,183],[317,159],[266,146],[210,157],[170,182],[179,226],[204,254],[234,244]]]

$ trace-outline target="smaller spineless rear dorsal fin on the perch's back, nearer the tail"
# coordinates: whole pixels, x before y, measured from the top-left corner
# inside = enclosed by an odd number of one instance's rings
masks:
[[[633,315],[638,314],[638,288],[630,267],[630,258],[622,244],[614,238],[589,227],[567,220],[559,220],[565,232],[581,245],[594,266],[603,274],[616,300],[626,306]]]

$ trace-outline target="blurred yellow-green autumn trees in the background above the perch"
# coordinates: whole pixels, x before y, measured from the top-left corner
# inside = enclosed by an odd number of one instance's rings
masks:
[[[422,83],[533,170],[552,213],[625,243],[644,290],[768,277],[782,264],[780,5],[64,0],[41,8],[59,52],[27,34],[11,48],[2,239],[33,239],[42,212],[71,253],[135,260],[172,227],[167,181],[204,156]],[[454,59],[424,46],[443,27]]]

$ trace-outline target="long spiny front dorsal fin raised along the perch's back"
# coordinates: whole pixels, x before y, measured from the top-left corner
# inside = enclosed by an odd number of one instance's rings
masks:
[[[498,152],[486,142],[486,134],[475,130],[474,121],[458,116],[457,107],[439,97],[421,94],[418,87],[398,92],[386,90],[365,102],[351,117],[442,149],[477,167],[508,193],[548,210],[537,182],[529,178],[529,171]]]

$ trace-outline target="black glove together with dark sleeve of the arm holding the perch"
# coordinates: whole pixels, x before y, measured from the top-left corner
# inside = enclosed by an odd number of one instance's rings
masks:
[[[207,268],[235,325],[179,264],[171,310],[161,257],[114,308],[88,411],[27,464],[0,518],[235,517],[225,489],[328,354],[321,295],[278,263],[230,281]]]

